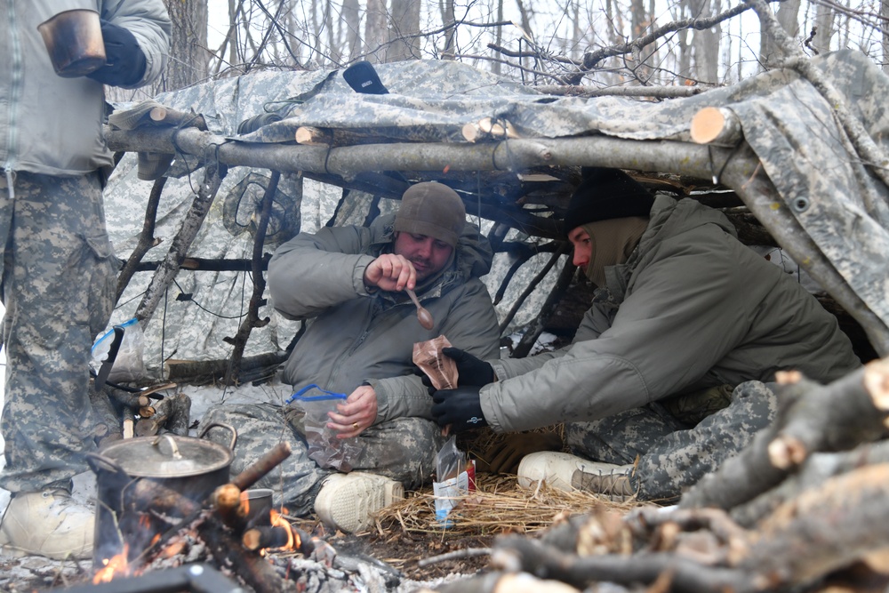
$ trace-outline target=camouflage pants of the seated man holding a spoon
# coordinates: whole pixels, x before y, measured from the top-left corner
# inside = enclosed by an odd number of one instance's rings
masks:
[[[324,478],[336,470],[323,469],[308,458],[306,438],[296,422],[285,419],[285,411],[286,408],[273,404],[215,405],[204,415],[201,425],[221,422],[236,429],[232,476],[248,468],[278,443],[289,443],[291,456],[255,487],[271,488],[275,493],[274,504],[283,504],[290,514],[299,517],[312,512]],[[206,436],[228,445],[228,430],[213,428]],[[436,453],[445,438],[435,422],[398,418],[365,429],[358,441],[364,449],[352,460],[354,471],[380,474],[401,482],[407,489],[416,489],[431,480]]]

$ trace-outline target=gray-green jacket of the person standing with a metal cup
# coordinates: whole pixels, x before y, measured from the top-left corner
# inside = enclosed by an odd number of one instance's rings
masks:
[[[0,0],[0,169],[80,175],[111,164],[102,136],[105,101],[92,78],[56,76],[37,25],[85,8],[128,29],[145,53],[145,76],[164,70],[171,23],[163,0]]]

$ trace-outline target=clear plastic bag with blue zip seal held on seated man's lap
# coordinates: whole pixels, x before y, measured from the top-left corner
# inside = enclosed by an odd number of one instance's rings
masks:
[[[321,389],[314,383],[307,385],[287,399],[286,403],[304,413],[303,429],[308,443],[308,459],[322,468],[351,471],[352,463],[364,451],[357,437],[337,438],[337,431],[328,429],[328,412],[337,412],[348,396]]]

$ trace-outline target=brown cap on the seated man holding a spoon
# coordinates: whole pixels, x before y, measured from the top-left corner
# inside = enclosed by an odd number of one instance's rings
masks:
[[[466,207],[460,196],[443,183],[426,181],[407,188],[393,228],[432,236],[455,247],[466,224]]]

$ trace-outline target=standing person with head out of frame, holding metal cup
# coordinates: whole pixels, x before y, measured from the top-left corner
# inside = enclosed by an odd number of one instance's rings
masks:
[[[55,74],[37,26],[99,12],[106,64]],[[0,0],[0,236],[6,354],[0,486],[12,493],[0,544],[45,557],[90,557],[92,509],[70,497],[95,449],[88,395],[93,338],[114,306],[116,258],[102,206],[112,164],[103,84],[136,88],[164,69],[162,0]]]

